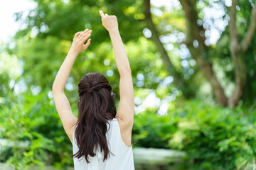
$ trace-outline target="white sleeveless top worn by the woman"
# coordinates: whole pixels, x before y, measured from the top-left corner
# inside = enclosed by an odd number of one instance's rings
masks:
[[[132,152],[132,145],[131,147],[127,147],[124,144],[121,132],[119,128],[119,123],[117,118],[113,120],[108,120],[110,123],[110,130],[109,124],[107,123],[107,142],[108,147],[110,149],[110,157],[108,157],[105,162],[103,162],[104,153],[100,152],[100,147],[96,152],[95,157],[90,157],[88,155],[89,164],[87,164],[84,157],[78,159],[74,157],[74,167],[75,170],[134,170],[134,157]],[[78,152],[78,145],[75,139],[75,130],[73,133],[73,154]],[[104,152],[104,151],[102,151]],[[114,155],[113,155],[114,154]]]

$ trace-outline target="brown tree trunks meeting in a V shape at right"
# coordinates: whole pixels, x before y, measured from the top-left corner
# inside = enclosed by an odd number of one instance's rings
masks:
[[[204,43],[204,39],[199,35],[201,28],[197,25],[198,13],[195,9],[196,0],[180,0],[183,10],[185,11],[186,19],[186,45],[191,52],[191,55],[195,58],[198,67],[206,76],[215,94],[217,103],[222,106],[230,106],[234,108],[238,105],[238,102],[242,98],[245,92],[245,84],[247,79],[245,52],[252,40],[252,36],[255,33],[256,26],[256,8],[252,8],[250,15],[250,24],[245,33],[245,37],[242,41],[238,42],[238,32],[235,26],[236,22],[236,6],[238,0],[233,0],[230,7],[230,53],[235,62],[235,91],[230,98],[225,96],[223,88],[220,86],[218,80],[213,74],[212,64],[206,62],[203,54],[207,55],[207,47]],[[255,1],[256,6],[256,1]],[[198,41],[198,47],[193,47],[193,40]]]

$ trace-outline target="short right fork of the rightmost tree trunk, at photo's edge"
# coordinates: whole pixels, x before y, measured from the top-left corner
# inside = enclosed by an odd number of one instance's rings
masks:
[[[255,26],[256,26],[256,1],[255,1],[255,7],[252,8],[252,11],[250,14],[249,28],[247,30],[247,33],[245,34],[245,37],[240,42],[240,45],[242,47],[242,53],[244,53],[247,50],[247,48],[252,40],[252,36],[255,33]]]

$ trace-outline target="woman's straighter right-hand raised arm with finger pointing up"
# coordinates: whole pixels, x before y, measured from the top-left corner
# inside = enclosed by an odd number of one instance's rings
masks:
[[[129,60],[124,49],[122,38],[119,34],[117,17],[108,16],[102,11],[100,11],[100,16],[102,17],[103,26],[110,33],[110,39],[114,49],[114,58],[120,74],[120,102],[117,109],[116,118],[119,120],[124,143],[127,144],[127,146],[130,146],[134,119],[134,89],[132,84],[132,71],[129,66]],[[127,136],[129,137],[127,138]]]

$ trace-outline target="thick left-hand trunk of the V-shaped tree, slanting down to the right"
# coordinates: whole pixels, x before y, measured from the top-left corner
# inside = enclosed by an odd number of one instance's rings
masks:
[[[202,28],[200,28],[196,22],[198,19],[198,13],[195,9],[196,1],[180,0],[180,2],[185,12],[186,19],[185,44],[189,52],[191,52],[192,57],[196,60],[201,72],[203,72],[206,79],[210,82],[217,103],[226,106],[228,98],[225,96],[222,86],[220,86],[218,79],[215,77],[212,64],[203,57],[203,54],[207,54],[208,49],[204,43],[205,38],[199,34]],[[198,41],[198,47],[193,46],[194,40]]]

